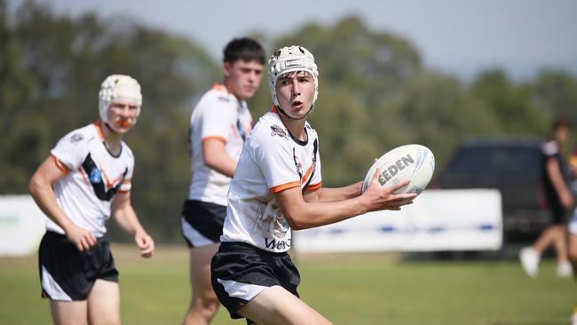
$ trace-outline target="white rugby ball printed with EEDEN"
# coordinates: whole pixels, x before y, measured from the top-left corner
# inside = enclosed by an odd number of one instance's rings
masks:
[[[362,186],[362,193],[368,188],[377,169],[381,169],[379,183],[381,186],[393,186],[408,178],[410,183],[399,188],[394,194],[421,194],[431,180],[435,170],[435,156],[428,147],[421,145],[406,145],[396,147],[377,159]]]

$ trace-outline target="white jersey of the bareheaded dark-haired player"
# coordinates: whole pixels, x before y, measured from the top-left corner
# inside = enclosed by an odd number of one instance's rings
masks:
[[[189,147],[193,178],[189,200],[226,206],[231,178],[209,168],[202,158],[202,142],[217,139],[225,143],[225,153],[238,161],[242,145],[252,125],[247,103],[239,101],[222,84],[215,83],[194,107],[190,119]]]

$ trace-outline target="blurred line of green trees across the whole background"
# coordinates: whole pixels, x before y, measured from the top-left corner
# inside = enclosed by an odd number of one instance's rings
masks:
[[[463,139],[543,138],[559,115],[577,123],[577,79],[566,71],[544,68],[514,81],[494,67],[465,83],[425,67],[410,41],[367,28],[356,16],[252,36],[266,52],[302,44],[317,59],[320,96],[311,123],[320,134],[326,186],[362,180],[375,157],[403,144],[430,147],[439,175]],[[27,193],[56,141],[98,118],[99,83],[131,75],[144,98],[125,138],[136,156],[133,205],[157,241],[177,241],[191,176],[188,121],[196,100],[222,80],[220,58],[136,21],[72,18],[34,1],[8,14],[0,0],[0,39],[0,194]],[[270,106],[264,79],[249,107],[256,120]],[[113,227],[113,240],[116,234]]]

